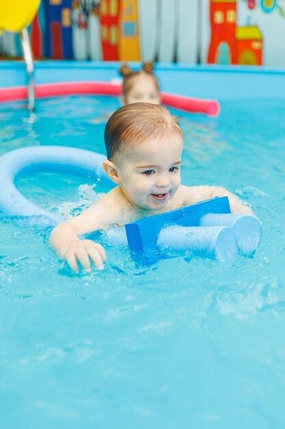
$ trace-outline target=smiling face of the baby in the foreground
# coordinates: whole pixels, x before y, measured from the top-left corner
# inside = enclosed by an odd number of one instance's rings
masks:
[[[180,186],[182,136],[146,140],[125,149],[116,164],[122,193],[139,209],[162,210]]]

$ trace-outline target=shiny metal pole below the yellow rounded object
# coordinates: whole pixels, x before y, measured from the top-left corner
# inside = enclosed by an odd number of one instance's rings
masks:
[[[28,92],[28,109],[33,110],[35,108],[35,81],[33,77],[33,52],[31,51],[31,43],[29,40],[29,33],[27,28],[24,28],[21,33],[21,45],[23,50],[23,56],[26,63],[27,69],[27,92]]]

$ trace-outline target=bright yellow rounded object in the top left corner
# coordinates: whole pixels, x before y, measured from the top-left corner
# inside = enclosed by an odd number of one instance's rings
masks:
[[[0,33],[21,32],[27,27],[40,6],[40,0],[0,0]]]

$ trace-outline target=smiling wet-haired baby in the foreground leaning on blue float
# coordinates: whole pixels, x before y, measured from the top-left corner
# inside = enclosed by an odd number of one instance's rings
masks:
[[[60,258],[78,272],[90,262],[103,269],[103,247],[79,238],[94,230],[125,225],[205,199],[228,196],[233,213],[252,210],[218,186],[180,184],[182,131],[176,117],[163,106],[133,103],[116,110],[105,127],[107,159],[103,167],[117,185],[81,215],[60,223],[50,243]]]

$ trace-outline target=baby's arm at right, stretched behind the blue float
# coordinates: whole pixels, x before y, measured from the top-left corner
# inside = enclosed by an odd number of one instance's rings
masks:
[[[214,197],[228,197],[232,213],[254,215],[252,209],[244,201],[220,186],[183,186],[183,197],[185,197],[185,205],[195,204]]]

